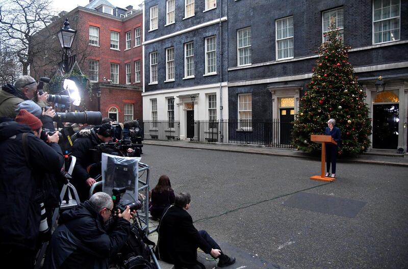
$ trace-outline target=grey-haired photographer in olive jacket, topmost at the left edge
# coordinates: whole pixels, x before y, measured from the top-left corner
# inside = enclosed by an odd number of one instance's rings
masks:
[[[46,106],[48,94],[45,92],[40,95],[37,92],[37,82],[29,75],[20,76],[14,86],[5,84],[0,90],[0,117],[14,119],[17,115],[17,105],[34,97],[37,97],[40,106]]]

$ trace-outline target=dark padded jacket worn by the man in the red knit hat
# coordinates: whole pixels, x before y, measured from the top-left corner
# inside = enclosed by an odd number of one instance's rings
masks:
[[[22,133],[28,132],[29,162]],[[45,173],[59,173],[64,159],[58,144],[47,145],[30,127],[14,121],[0,124],[0,244],[34,249],[40,225],[37,192]]]

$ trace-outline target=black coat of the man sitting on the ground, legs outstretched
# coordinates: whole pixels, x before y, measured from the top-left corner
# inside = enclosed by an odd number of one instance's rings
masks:
[[[210,254],[211,246],[198,233],[193,219],[183,208],[171,205],[164,210],[158,228],[156,255],[176,266],[197,264],[197,247]]]

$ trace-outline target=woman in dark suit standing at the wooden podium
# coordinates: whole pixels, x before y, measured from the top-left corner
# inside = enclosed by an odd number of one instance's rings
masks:
[[[330,176],[330,164],[331,164],[331,177],[336,177],[336,157],[337,157],[337,151],[339,150],[339,145],[340,145],[340,129],[336,127],[336,120],[335,119],[329,119],[327,121],[328,127],[326,127],[326,130],[324,134],[327,136],[331,136],[334,141],[337,142],[337,145],[333,144],[327,144],[326,145],[326,171],[327,173],[325,174],[326,177]]]

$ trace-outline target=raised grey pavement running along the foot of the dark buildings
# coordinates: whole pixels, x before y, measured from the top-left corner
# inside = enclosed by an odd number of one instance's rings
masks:
[[[190,142],[189,140],[179,141],[160,141],[160,140],[144,140],[143,144],[146,145],[158,145],[168,147],[180,147],[180,148],[195,148],[195,149],[207,149],[207,150],[220,150],[231,151],[241,153],[253,153],[264,155],[285,156],[294,158],[309,158],[318,159],[319,156],[314,156],[308,153],[304,153],[295,149],[283,149],[272,148],[258,145],[246,145],[246,144],[224,144],[224,143],[202,143],[202,142]],[[365,163],[365,164],[377,164],[377,165],[391,165],[391,166],[403,166],[408,167],[408,153],[399,154],[396,150],[371,150],[367,151],[358,157],[338,158],[338,162],[352,162],[352,163]]]

